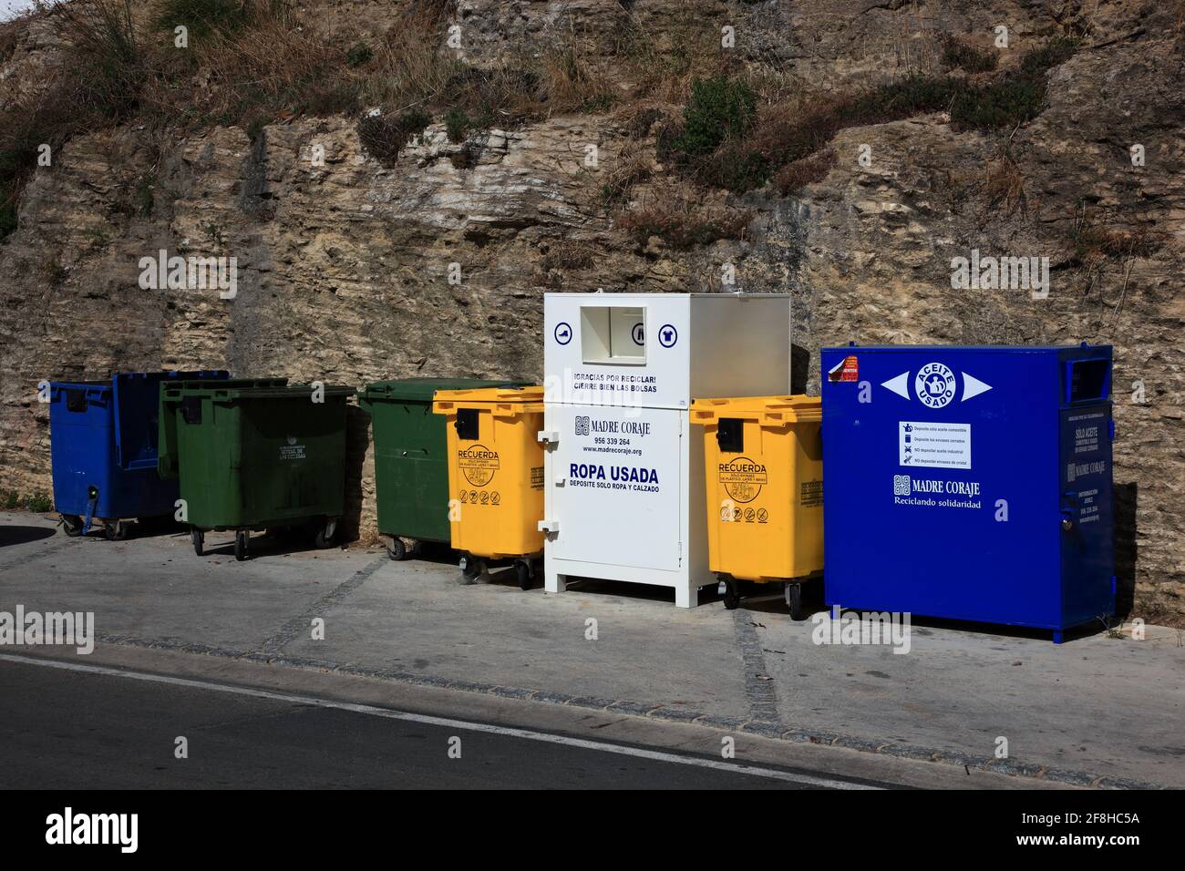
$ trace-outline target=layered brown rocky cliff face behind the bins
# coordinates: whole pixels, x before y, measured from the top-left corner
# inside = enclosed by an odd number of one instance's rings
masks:
[[[378,40],[408,5],[324,6]],[[433,113],[393,161],[369,152],[357,114],[294,115],[250,134],[132,120],[75,135],[28,181],[19,226],[0,242],[0,489],[50,489],[41,379],[214,366],[351,385],[538,378],[546,290],[718,290],[732,264],[739,289],[794,295],[809,392],[818,348],[850,340],[1114,345],[1120,572],[1138,615],[1179,617],[1185,25],[1164,4],[1096,6],[462,0],[448,21],[473,68],[575,37],[611,98],[460,141]],[[52,63],[52,21],[34,24],[0,85]],[[998,25],[1011,49],[994,46]],[[735,30],[734,49],[716,47],[722,27]],[[928,111],[847,126],[816,180],[783,196],[677,178],[655,141],[686,89],[642,82],[645,69],[622,63],[627,30],[664,57],[706,40],[735,52],[730,69],[820,100],[943,70],[943,36],[997,52],[1005,69],[1038,34],[1080,43],[1045,73],[1027,123],[960,129]],[[606,188],[623,175],[614,203]],[[656,201],[739,216],[742,231],[686,248],[624,218]],[[141,289],[139,261],[161,249],[235,256],[236,299]],[[1048,297],[952,289],[950,260],[972,249],[1049,257]],[[348,531],[366,539],[373,474],[360,411],[351,433]]]

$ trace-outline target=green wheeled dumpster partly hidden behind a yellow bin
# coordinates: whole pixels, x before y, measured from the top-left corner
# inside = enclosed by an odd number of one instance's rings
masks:
[[[437,390],[521,386],[480,378],[403,378],[367,384],[358,404],[374,436],[378,531],[392,559],[419,542],[449,542],[447,421],[433,414]]]

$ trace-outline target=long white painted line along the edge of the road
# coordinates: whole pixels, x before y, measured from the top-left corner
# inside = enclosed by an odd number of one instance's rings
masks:
[[[18,665],[38,665],[47,668],[60,668],[70,672],[84,672],[88,674],[105,674],[113,678],[126,678],[129,680],[143,680],[150,684],[167,684],[169,686],[185,686],[194,690],[209,690],[212,692],[225,692],[232,696],[248,696],[251,698],[270,699],[273,702],[289,702],[297,705],[313,705],[316,707],[329,707],[339,711],[352,711],[354,713],[366,713],[373,717],[386,717],[387,719],[399,719],[408,723],[423,723],[424,725],[447,726],[461,729],[470,732],[485,732],[487,735],[501,735],[512,738],[525,738],[527,741],[539,741],[547,744],[563,744],[576,747],[583,750],[598,750],[601,752],[614,752],[621,756],[634,756],[636,758],[653,760],[655,762],[671,762],[679,766],[694,766],[698,768],[710,768],[717,771],[729,771],[731,774],[748,774],[756,777],[768,777],[781,780],[788,783],[801,783],[805,786],[826,787],[828,789],[880,789],[882,787],[869,786],[866,783],[852,783],[844,780],[832,780],[830,777],[816,777],[809,774],[794,774],[792,771],[780,771],[776,768],[762,768],[760,766],[744,766],[729,762],[717,762],[716,760],[702,758],[699,756],[680,756],[678,754],[664,752],[661,750],[645,750],[638,747],[626,747],[623,744],[610,744],[600,741],[588,741],[585,738],[572,738],[565,735],[551,735],[549,732],[537,732],[531,729],[515,729],[514,726],[500,726],[492,723],[476,723],[463,719],[451,719],[448,717],[431,717],[423,713],[411,713],[410,711],[396,711],[390,707],[378,707],[376,705],[364,705],[353,702],[334,702],[321,699],[315,696],[294,696],[292,693],[274,692],[271,690],[256,690],[246,686],[233,686],[230,684],[216,684],[206,680],[191,680],[188,678],[174,678],[167,674],[150,674],[148,672],[126,671],[122,668],[108,668],[100,665],[82,665],[81,662],[63,662],[60,660],[40,659],[38,657],[17,657],[0,653],[0,661],[15,662]]]

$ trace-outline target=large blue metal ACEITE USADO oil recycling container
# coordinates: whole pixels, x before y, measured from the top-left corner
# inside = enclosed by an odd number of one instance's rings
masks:
[[[828,607],[1057,643],[1114,613],[1110,346],[821,353]]]

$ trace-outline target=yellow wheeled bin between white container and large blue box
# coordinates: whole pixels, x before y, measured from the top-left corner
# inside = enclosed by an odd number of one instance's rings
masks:
[[[696,399],[704,428],[709,565],[724,606],[738,581],[781,583],[802,620],[801,582],[822,574],[822,404],[808,396]]]

